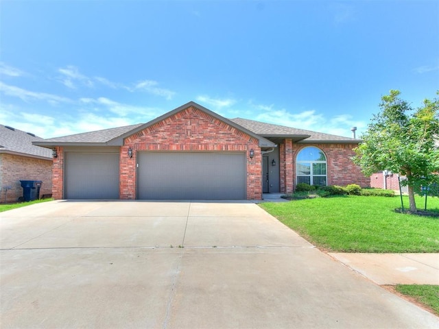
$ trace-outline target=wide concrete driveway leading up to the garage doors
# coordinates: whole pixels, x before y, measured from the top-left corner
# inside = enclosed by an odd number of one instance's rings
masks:
[[[438,328],[252,202],[0,213],[1,328]]]

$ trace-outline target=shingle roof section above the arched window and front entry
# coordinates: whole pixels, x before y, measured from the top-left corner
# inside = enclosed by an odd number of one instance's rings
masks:
[[[255,134],[264,136],[264,137],[278,137],[278,136],[291,136],[296,137],[300,142],[299,143],[316,143],[316,142],[352,142],[359,143],[358,139],[336,136],[331,134],[324,134],[322,132],[313,132],[311,130],[298,129],[294,127],[286,127],[285,125],[274,125],[272,123],[264,123],[260,121],[254,121],[249,119],[241,119],[235,118],[230,119],[245,127],[246,129],[254,132]]]

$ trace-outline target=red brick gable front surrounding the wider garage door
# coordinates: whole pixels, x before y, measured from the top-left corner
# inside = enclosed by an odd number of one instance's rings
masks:
[[[128,147],[134,156],[128,158]],[[254,149],[250,160],[248,152]],[[262,199],[259,141],[194,107],[186,108],[126,138],[121,148],[120,198],[136,197],[138,151],[243,151],[247,160],[247,199]]]

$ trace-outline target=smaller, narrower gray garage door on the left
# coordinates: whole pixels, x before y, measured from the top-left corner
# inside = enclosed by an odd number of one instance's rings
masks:
[[[119,154],[67,153],[67,199],[119,199]]]

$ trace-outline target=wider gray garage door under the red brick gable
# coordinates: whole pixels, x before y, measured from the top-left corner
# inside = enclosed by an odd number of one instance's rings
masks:
[[[139,199],[246,199],[242,153],[142,152]]]

